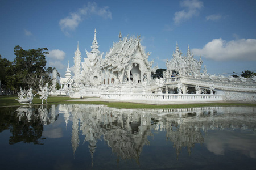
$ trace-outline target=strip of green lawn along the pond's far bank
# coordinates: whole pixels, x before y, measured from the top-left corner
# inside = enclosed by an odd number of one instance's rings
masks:
[[[0,107],[6,106],[18,106],[22,105],[15,99],[18,96],[0,96]],[[48,104],[102,104],[113,108],[144,108],[144,109],[167,109],[167,108],[194,108],[194,107],[205,107],[205,106],[248,106],[256,107],[255,104],[251,103],[201,103],[201,104],[170,104],[170,105],[151,105],[151,104],[137,104],[137,103],[127,103],[127,102],[105,102],[105,101],[67,101],[70,100],[69,97],[63,96],[49,96]],[[34,104],[41,104],[41,99],[33,100]],[[45,103],[45,101],[44,101]]]

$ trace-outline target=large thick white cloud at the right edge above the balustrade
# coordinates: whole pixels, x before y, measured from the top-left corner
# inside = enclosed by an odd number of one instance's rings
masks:
[[[239,39],[226,42],[214,39],[202,49],[191,50],[196,56],[215,61],[247,60],[256,61],[256,39]]]

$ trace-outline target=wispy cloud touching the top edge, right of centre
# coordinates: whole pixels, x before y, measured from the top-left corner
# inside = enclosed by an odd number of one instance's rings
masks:
[[[199,10],[204,6],[199,0],[185,0],[180,2],[180,6],[185,10],[175,12],[174,23],[177,25],[199,14]]]

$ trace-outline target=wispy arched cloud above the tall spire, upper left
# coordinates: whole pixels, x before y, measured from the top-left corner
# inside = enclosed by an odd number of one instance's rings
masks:
[[[72,12],[66,18],[60,20],[59,25],[61,31],[65,35],[69,35],[69,31],[75,30],[79,23],[86,18],[86,16],[98,15],[104,19],[112,19],[112,13],[108,6],[98,7],[96,2],[88,2],[84,8],[80,8],[76,12]]]

